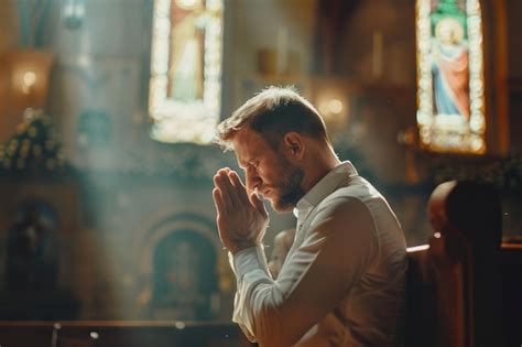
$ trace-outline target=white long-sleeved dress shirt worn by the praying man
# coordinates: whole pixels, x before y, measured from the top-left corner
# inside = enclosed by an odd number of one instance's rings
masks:
[[[295,239],[278,280],[262,247],[230,254],[232,321],[262,347],[400,345],[407,260],[385,199],[344,162],[294,213]]]

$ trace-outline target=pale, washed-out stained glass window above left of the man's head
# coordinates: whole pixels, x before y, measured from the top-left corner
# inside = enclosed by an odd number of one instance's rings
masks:
[[[209,143],[221,107],[222,0],[155,0],[151,138]]]

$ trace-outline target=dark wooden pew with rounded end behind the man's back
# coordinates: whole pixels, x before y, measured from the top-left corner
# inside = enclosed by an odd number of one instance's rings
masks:
[[[496,189],[443,183],[428,218],[428,245],[409,249],[406,346],[520,346],[522,248],[501,243]]]

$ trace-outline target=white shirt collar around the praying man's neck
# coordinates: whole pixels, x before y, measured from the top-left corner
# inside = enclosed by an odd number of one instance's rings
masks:
[[[300,212],[308,212],[317,206],[325,197],[330,195],[342,181],[355,175],[357,175],[357,170],[349,161],[342,162],[330,170],[297,202],[294,208],[294,216],[298,217]]]

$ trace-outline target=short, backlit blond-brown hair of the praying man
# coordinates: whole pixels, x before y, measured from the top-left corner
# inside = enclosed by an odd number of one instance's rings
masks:
[[[247,127],[260,133],[273,149],[279,148],[289,131],[329,141],[319,112],[293,87],[272,86],[247,100],[218,124],[215,142],[231,150],[233,137]]]

